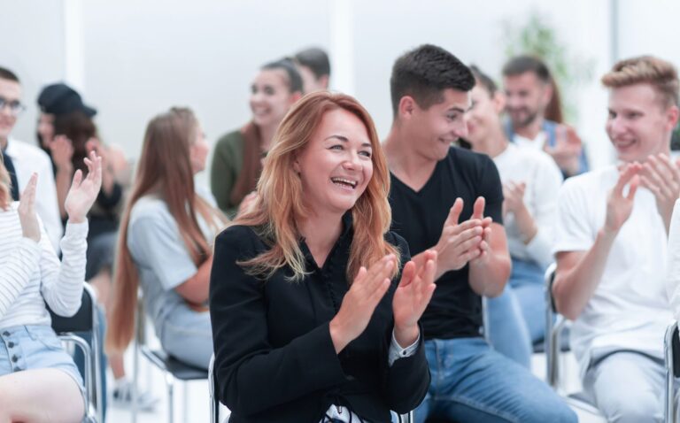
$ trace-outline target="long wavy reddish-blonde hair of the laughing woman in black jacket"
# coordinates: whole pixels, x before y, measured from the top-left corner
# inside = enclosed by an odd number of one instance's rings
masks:
[[[373,119],[353,97],[320,91],[304,96],[282,120],[265,159],[257,200],[249,212],[234,222],[253,227],[271,245],[267,252],[239,263],[249,274],[268,279],[278,269],[288,266],[293,271],[293,281],[305,277],[297,222],[309,216],[310,211],[305,207],[305,193],[293,163],[310,142],[324,114],[337,109],[351,112],[363,122],[373,149],[373,176],[352,207],[354,235],[347,280],[351,283],[360,266],[368,267],[386,254],[399,257],[398,250],[384,240],[391,222],[390,171]],[[395,268],[394,274],[397,272]]]

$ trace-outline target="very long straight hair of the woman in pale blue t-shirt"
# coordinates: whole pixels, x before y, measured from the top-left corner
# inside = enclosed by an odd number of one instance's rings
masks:
[[[130,212],[147,194],[157,194],[180,230],[194,264],[199,266],[212,251],[198,226],[197,214],[217,231],[227,219],[197,196],[189,147],[198,130],[194,113],[186,108],[172,108],[151,119],[146,127],[142,156],[135,175],[135,185],[120,222],[116,265],[113,274],[113,304],[106,335],[107,350],[125,350],[135,332],[135,311],[139,274],[128,249]]]

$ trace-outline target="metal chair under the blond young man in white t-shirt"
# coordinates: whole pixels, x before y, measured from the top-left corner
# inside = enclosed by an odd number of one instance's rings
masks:
[[[561,342],[562,333],[567,327],[567,319],[556,311],[553,298],[556,269],[557,265],[553,263],[545,271],[545,303],[547,305],[545,307],[545,377],[551,388],[560,391],[560,353],[568,351],[568,345]],[[583,392],[561,395],[567,404],[604,419],[602,413]]]

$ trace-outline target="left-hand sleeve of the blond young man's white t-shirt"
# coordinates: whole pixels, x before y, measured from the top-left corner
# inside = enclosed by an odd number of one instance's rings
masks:
[[[560,188],[557,219],[553,227],[553,254],[591,248],[594,240],[589,223],[592,212],[588,210],[589,199],[584,188],[583,181],[574,178],[569,178]]]

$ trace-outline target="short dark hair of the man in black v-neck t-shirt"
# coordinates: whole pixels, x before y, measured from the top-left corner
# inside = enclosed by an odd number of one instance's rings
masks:
[[[473,87],[475,77],[468,66],[441,47],[423,44],[407,51],[392,66],[392,112],[397,116],[403,96],[412,96],[421,108],[428,109],[442,101],[446,88],[469,91]]]

